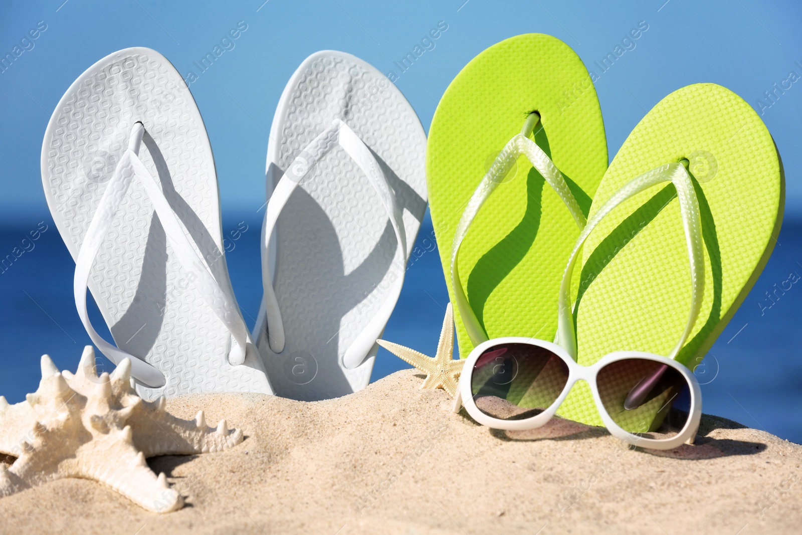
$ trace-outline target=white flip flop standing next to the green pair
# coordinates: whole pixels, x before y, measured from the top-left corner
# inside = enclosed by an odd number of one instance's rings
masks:
[[[407,99],[363,60],[321,51],[290,78],[270,128],[253,332],[277,395],[370,382],[426,210],[425,149]]]

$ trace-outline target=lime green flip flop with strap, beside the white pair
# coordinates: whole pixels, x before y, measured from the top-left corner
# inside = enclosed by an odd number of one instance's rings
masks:
[[[488,337],[553,337],[562,270],[607,161],[593,83],[559,39],[506,39],[448,86],[427,188],[462,357]]]

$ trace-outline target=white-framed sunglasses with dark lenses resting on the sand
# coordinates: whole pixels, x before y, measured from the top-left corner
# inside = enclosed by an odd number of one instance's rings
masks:
[[[489,428],[540,428],[580,379],[589,383],[602,421],[618,439],[652,449],[693,443],[702,415],[699,383],[682,364],[642,351],[616,351],[581,366],[552,342],[494,338],[468,356],[455,408],[464,406]],[[678,410],[680,404],[690,407]]]

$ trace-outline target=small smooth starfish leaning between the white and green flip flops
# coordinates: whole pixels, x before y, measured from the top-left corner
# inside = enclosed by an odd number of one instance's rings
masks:
[[[454,359],[454,310],[451,303],[446,307],[446,316],[443,318],[443,330],[440,331],[440,340],[437,342],[437,354],[434,359],[410,349],[399,346],[397,343],[386,340],[376,340],[379,346],[393,355],[410,363],[420,371],[426,373],[421,388],[442,388],[452,397],[456,395],[457,380],[462,372],[462,359]]]

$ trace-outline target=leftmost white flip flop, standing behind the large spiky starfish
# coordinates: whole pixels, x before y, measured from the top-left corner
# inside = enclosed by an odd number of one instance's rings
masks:
[[[128,48],[75,80],[42,181],[83,326],[112,362],[132,357],[140,395],[273,393],[229,281],[209,137],[164,56]],[[116,347],[91,326],[87,286]]]

